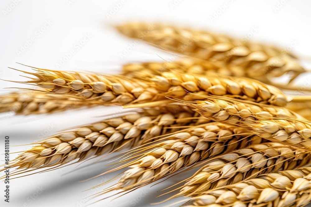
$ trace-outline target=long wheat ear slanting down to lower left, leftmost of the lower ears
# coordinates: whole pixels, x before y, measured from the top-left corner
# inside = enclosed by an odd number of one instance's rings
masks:
[[[190,110],[191,111],[191,110]],[[196,123],[207,123],[197,113],[167,108],[145,109],[53,135],[33,144],[10,164],[17,169],[39,169],[77,162],[126,147],[140,146],[153,137],[173,133]]]

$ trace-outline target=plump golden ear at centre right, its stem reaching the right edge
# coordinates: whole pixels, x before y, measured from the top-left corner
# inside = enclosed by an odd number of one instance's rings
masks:
[[[167,80],[163,79],[163,77]],[[161,76],[156,76],[153,80],[158,83],[157,86],[169,82],[173,86],[182,86],[188,92],[201,90],[215,96],[225,96],[275,106],[284,106],[297,99],[296,97],[286,97],[279,89],[253,79],[221,76],[214,73],[202,76],[163,72]],[[169,91],[169,88],[167,91]],[[204,98],[202,95],[205,94],[201,93],[201,96],[196,96],[196,100],[202,100]],[[191,99],[187,101],[191,101]],[[300,98],[300,101],[304,101],[304,98]]]

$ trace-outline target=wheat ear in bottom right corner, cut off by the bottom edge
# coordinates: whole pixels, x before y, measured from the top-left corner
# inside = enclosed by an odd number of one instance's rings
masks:
[[[305,206],[310,200],[311,168],[285,170],[207,191],[192,206]]]

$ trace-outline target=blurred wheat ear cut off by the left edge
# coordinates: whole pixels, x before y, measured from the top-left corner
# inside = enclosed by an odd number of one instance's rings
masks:
[[[41,92],[10,93],[0,97],[0,112],[14,111],[16,114],[42,114],[94,106],[90,102],[75,98],[45,94]]]

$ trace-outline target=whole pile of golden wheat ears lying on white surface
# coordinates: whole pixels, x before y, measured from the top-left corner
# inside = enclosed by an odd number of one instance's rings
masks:
[[[304,206],[311,202],[311,98],[291,83],[307,72],[277,47],[167,25],[116,27],[183,55],[123,65],[102,75],[33,68],[38,86],[1,97],[0,112],[40,114],[82,106],[133,108],[121,116],[35,142],[10,163],[13,176],[127,150],[102,174],[124,169],[110,191],[125,193],[198,168],[170,186],[184,206]],[[288,83],[276,83],[285,75]],[[272,81],[273,80],[273,81]],[[108,162],[108,161],[107,161]],[[36,171],[38,172],[38,171]],[[100,176],[100,175],[99,175]],[[102,183],[104,185],[106,183]],[[96,186],[98,187],[98,186]]]

